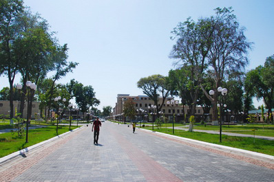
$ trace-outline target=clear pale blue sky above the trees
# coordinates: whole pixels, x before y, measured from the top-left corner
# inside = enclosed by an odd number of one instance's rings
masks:
[[[115,106],[119,93],[144,95],[140,78],[174,69],[169,58],[171,31],[189,16],[195,21],[214,14],[215,8],[232,7],[246,38],[253,42],[246,70],[264,65],[274,54],[273,0],[24,0],[56,32],[60,45],[69,47],[68,61],[78,62],[71,79],[91,85],[103,106]],[[14,84],[20,81],[16,77]],[[0,89],[8,87],[1,76]],[[253,100],[254,105],[262,101]]]

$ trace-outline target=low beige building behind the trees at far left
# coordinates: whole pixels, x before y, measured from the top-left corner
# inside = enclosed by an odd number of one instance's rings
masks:
[[[32,116],[31,118],[34,119],[35,117],[37,117],[37,115],[40,114],[40,110],[39,110],[39,102],[32,102]],[[13,101],[13,113],[15,115],[15,109],[17,109],[17,112],[19,113],[19,109],[20,109],[20,101],[14,100]],[[24,104],[24,110],[23,110],[23,117],[26,118],[27,117],[27,102],[25,102]],[[35,115],[36,113],[36,115]],[[6,117],[6,115],[10,115],[10,101],[9,100],[0,100],[0,115],[3,115],[4,117]],[[8,116],[9,118],[10,116]],[[14,116],[15,117],[15,116]]]

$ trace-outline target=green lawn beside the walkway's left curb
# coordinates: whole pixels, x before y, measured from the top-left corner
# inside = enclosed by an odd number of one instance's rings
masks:
[[[79,126],[80,127],[80,126]],[[76,126],[71,126],[71,129],[77,128]],[[69,131],[69,126],[59,126],[58,133],[61,135]],[[11,154],[23,148],[38,144],[41,141],[45,141],[56,136],[56,126],[47,126],[45,128],[36,128],[29,130],[28,133],[28,143],[25,143],[24,137],[17,137],[17,133],[3,133],[0,134],[0,157]]]

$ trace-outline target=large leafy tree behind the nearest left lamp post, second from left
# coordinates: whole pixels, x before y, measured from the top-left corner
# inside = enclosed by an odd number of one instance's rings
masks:
[[[20,112],[23,113],[25,95],[27,94],[26,82],[30,80],[38,84],[39,80],[45,78],[48,71],[52,69],[53,62],[50,56],[55,47],[51,34],[47,32],[49,25],[39,14],[33,15],[30,10],[25,10],[19,16],[18,25],[21,29],[21,36],[14,41],[14,47],[17,47],[15,56],[19,60],[19,71],[23,80],[22,91],[24,94],[21,95],[20,106]],[[30,107],[31,104],[30,102]],[[29,109],[29,111],[31,110]]]

